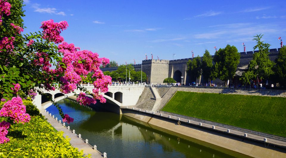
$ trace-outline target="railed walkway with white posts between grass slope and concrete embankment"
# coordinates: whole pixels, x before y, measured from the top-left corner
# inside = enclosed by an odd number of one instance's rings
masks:
[[[252,139],[255,141],[260,141],[260,142],[265,142],[265,143],[267,142],[267,143],[272,144],[274,146],[280,146],[282,148],[286,148],[286,138],[280,137],[277,135],[271,135],[271,134],[267,134],[267,133],[257,132],[257,131],[248,130],[248,129],[244,129],[244,128],[240,128],[240,127],[234,127],[234,126],[225,125],[225,124],[221,124],[221,123],[217,123],[217,122],[211,122],[211,121],[207,121],[207,120],[203,120],[203,119],[198,119],[198,118],[194,118],[194,117],[174,114],[174,113],[170,113],[170,112],[166,112],[166,111],[154,112],[154,111],[147,111],[147,110],[136,108],[136,107],[130,108],[128,106],[121,107],[121,108],[140,111],[142,113],[147,113],[147,114],[151,114],[151,115],[155,115],[155,116],[161,116],[164,118],[177,120],[179,122],[184,122],[187,124],[192,124],[195,126],[204,127],[207,129],[212,129],[212,130],[216,130],[219,132],[228,133],[231,135],[236,135],[239,137],[244,137],[244,138]]]

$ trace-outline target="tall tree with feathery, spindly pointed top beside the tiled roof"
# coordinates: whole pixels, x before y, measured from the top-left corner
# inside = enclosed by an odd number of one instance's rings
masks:
[[[253,59],[249,62],[248,71],[242,74],[241,80],[244,84],[250,84],[252,79],[268,79],[274,74],[275,63],[269,59],[270,44],[261,41],[263,35],[254,36],[253,39],[257,45],[253,49],[258,48],[258,52],[253,54]]]

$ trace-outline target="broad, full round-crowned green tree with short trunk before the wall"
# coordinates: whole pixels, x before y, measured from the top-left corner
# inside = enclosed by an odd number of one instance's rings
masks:
[[[212,77],[218,77],[219,79],[225,81],[225,86],[227,80],[231,80],[239,64],[240,54],[237,48],[234,46],[226,45],[225,48],[219,49],[215,52],[214,62],[215,66],[212,71]]]

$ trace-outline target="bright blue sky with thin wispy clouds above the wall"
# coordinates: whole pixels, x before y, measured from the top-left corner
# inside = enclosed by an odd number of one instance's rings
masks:
[[[41,22],[69,23],[62,36],[81,50],[119,64],[214,55],[227,44],[252,51],[256,34],[278,48],[286,42],[286,3],[280,1],[35,1],[24,0],[24,33],[41,31]]]

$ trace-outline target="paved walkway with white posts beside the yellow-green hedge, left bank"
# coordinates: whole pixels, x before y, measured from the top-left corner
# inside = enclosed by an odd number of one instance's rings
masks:
[[[86,144],[82,139],[78,138],[76,134],[73,134],[70,130],[67,129],[67,127],[64,127],[62,124],[60,124],[58,121],[52,118],[52,116],[49,116],[44,110],[40,110],[41,114],[45,116],[47,121],[57,130],[57,131],[63,131],[63,136],[69,136],[70,143],[73,147],[78,148],[78,150],[83,150],[83,153],[86,155],[91,154],[91,157],[94,158],[102,158],[103,155],[97,151],[94,150],[90,145]]]

